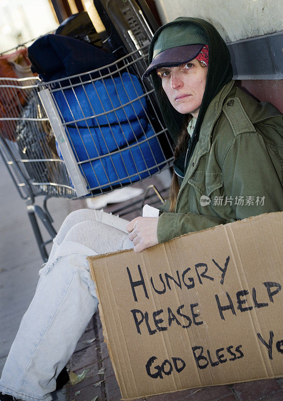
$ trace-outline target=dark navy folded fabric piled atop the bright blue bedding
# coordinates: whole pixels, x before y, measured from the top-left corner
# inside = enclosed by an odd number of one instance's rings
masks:
[[[116,61],[111,54],[78,39],[62,35],[46,35],[29,48],[32,71],[45,81],[82,74]],[[93,74],[96,78],[99,74]]]

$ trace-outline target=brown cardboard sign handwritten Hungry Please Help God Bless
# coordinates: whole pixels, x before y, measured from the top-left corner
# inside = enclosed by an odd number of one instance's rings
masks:
[[[123,399],[283,375],[283,212],[90,257]]]

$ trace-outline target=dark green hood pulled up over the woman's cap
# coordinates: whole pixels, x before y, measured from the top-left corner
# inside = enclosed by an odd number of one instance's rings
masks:
[[[188,18],[188,17],[179,17],[176,20],[163,25],[156,31],[149,47],[149,55],[148,55],[149,64],[152,62],[153,48],[159,34],[166,27],[174,25],[184,27],[184,40],[182,41],[181,45],[199,44],[199,40],[196,38],[196,35],[190,34],[190,32],[192,32],[191,29],[189,30],[189,32],[188,30],[186,32],[186,27],[194,25],[196,26],[197,31],[199,30],[202,31],[203,35],[201,36],[202,37],[204,36],[204,38],[206,38],[206,42],[204,44],[208,45],[209,47],[209,63],[208,63],[205,92],[202,99],[200,111],[198,114],[197,123],[195,125],[194,133],[189,143],[189,152],[187,155],[187,162],[188,162],[195,148],[195,144],[198,140],[200,126],[204,114],[207,110],[207,107],[211,102],[211,100],[214,98],[214,96],[219,92],[219,90],[232,79],[233,71],[230,63],[229,50],[225,42],[219,35],[219,33],[216,31],[216,29],[207,21],[201,20],[199,18]],[[170,31],[171,30],[169,30],[168,32],[168,44],[169,47],[172,47],[172,36],[170,35]],[[164,37],[166,40],[166,34],[164,35]],[[163,46],[164,46],[164,39],[163,39]],[[179,44],[176,43],[175,46],[179,46]],[[174,142],[176,142],[185,116],[173,108],[173,106],[170,104],[166,96],[160,96],[162,85],[161,85],[161,80],[158,77],[156,71],[154,71],[151,74],[151,77],[165,124]],[[175,159],[174,165],[178,168],[178,170],[184,172],[185,170],[184,162],[185,162],[185,154],[181,155],[178,159]]]

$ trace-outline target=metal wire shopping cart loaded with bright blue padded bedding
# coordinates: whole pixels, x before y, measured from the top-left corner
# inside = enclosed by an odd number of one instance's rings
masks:
[[[135,2],[122,3],[136,8]],[[136,36],[128,30],[127,43],[121,40],[124,55],[108,66],[48,83],[0,78],[0,100],[7,106],[0,116],[0,152],[26,200],[44,261],[56,235],[50,197],[96,196],[171,165],[171,140],[153,87],[141,81],[152,31],[138,13]],[[11,98],[13,107],[5,103]],[[35,205],[39,195],[43,207]],[[43,241],[38,219],[50,240]]]

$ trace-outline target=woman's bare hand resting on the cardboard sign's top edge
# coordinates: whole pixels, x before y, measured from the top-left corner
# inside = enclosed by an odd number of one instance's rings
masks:
[[[159,244],[157,240],[157,224],[159,217],[136,217],[127,226],[129,239],[134,243],[134,251],[142,252],[144,249]]]

